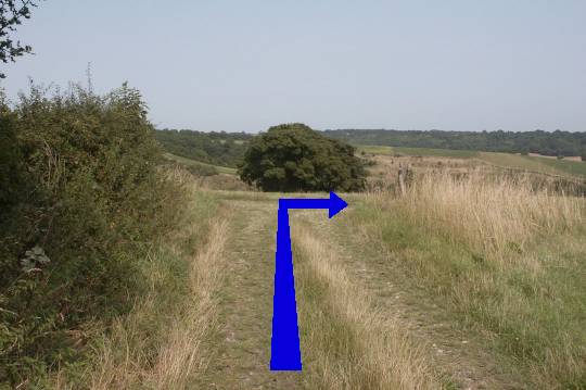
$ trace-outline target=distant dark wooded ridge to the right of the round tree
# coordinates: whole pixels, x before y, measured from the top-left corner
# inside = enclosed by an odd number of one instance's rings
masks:
[[[586,160],[586,133],[340,129],[324,130],[323,134],[354,144],[581,155]]]

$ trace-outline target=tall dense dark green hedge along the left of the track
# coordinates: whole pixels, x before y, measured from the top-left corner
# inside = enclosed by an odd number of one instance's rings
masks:
[[[14,386],[71,361],[89,322],[129,306],[137,256],[179,192],[126,85],[33,87],[1,105],[0,126],[0,383]]]

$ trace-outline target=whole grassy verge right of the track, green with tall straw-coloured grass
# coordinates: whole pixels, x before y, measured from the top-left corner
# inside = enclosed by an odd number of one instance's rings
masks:
[[[489,335],[533,386],[586,387],[584,199],[523,183],[416,183],[351,214],[419,286],[468,328]]]

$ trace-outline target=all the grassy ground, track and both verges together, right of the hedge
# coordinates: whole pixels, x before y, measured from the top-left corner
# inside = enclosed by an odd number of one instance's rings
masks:
[[[373,151],[382,188],[342,194],[333,219],[292,212],[303,373],[268,370],[277,203],[292,194],[179,169],[191,206],[145,263],[151,293],[97,343],[91,388],[584,388],[584,198],[479,156]],[[399,165],[415,172],[403,196]]]

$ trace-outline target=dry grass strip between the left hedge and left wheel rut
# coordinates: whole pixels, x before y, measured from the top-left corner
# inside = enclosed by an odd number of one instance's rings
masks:
[[[217,326],[215,293],[222,279],[226,229],[225,221],[212,223],[206,246],[189,267],[189,293],[182,302],[177,302],[181,309],[166,318],[164,335],[154,350],[143,349],[146,345],[140,341],[141,337],[148,337],[144,326],[157,310],[154,298],[148,297],[129,318],[116,324],[98,351],[98,364],[90,376],[91,389],[133,389],[146,385],[155,389],[187,389],[205,372],[209,355],[204,344]],[[152,286],[151,293],[158,293],[155,290],[158,284]],[[125,351],[122,356],[120,350]]]

